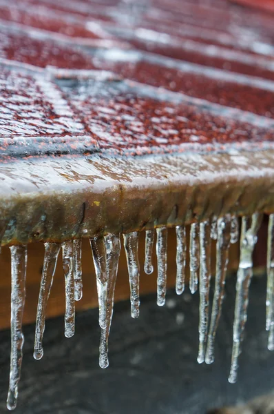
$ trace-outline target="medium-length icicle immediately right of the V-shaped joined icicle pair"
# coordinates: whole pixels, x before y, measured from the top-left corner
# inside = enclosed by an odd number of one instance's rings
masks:
[[[127,269],[129,271],[131,317],[139,316],[139,279],[140,268],[138,260],[138,232],[123,235]]]

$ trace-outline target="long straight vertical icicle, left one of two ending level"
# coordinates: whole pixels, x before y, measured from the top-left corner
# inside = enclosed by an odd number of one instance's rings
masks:
[[[211,225],[209,221],[200,223],[200,320],[199,320],[199,353],[197,361],[204,362],[209,324],[209,287],[211,279]]]

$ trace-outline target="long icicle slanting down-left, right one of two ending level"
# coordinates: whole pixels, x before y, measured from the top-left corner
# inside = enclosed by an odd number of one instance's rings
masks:
[[[212,305],[211,323],[209,328],[209,337],[207,340],[207,353],[205,362],[212,364],[214,361],[214,340],[220,315],[222,312],[222,300],[224,298],[224,284],[226,277],[226,268],[229,263],[229,246],[231,238],[231,216],[226,215],[218,219],[218,239],[216,245],[216,275],[215,275],[215,292]]]

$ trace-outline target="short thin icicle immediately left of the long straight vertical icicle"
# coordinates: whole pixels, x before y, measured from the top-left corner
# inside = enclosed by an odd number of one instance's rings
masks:
[[[190,226],[189,243],[189,289],[191,293],[195,293],[198,289],[199,255],[199,224],[193,223]]]

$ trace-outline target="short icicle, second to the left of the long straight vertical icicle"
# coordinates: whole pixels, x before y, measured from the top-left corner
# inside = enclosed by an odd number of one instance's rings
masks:
[[[187,240],[185,226],[176,226],[177,250],[176,250],[176,293],[181,295],[185,290],[185,262],[187,255]]]

